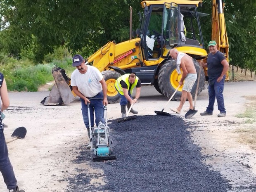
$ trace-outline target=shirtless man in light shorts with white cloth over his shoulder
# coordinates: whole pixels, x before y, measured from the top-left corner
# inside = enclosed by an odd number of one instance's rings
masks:
[[[170,108],[175,113],[180,114],[180,111],[181,111],[186,100],[189,101],[190,109],[193,110],[193,107],[194,107],[193,106],[193,98],[192,98],[190,91],[191,91],[195,81],[197,80],[197,71],[194,66],[192,57],[190,57],[189,55],[182,53],[182,52],[178,52],[178,50],[173,48],[170,51],[170,56],[173,59],[177,59],[177,63],[176,63],[177,64],[177,69],[176,69],[177,72],[179,74],[181,73],[180,68],[183,71],[182,77],[179,82],[180,86],[183,85],[183,81],[185,81],[183,88],[182,88],[182,94],[181,94],[179,107],[176,109]]]

